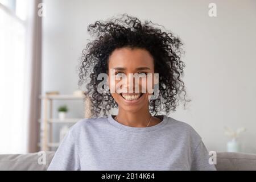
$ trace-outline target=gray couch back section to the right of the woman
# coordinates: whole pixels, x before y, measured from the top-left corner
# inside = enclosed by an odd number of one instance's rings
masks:
[[[256,154],[242,152],[217,152],[218,171],[256,170]]]

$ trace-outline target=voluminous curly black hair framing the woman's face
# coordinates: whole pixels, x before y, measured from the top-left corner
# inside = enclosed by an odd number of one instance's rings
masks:
[[[177,96],[182,92],[186,94],[184,82],[180,78],[185,68],[180,60],[184,53],[181,48],[183,43],[161,27],[163,28],[148,20],[142,23],[138,18],[127,14],[89,24],[87,30],[95,39],[82,50],[79,86],[86,82],[85,94],[92,102],[92,117],[98,117],[101,112],[107,116],[110,109],[118,107],[110,92],[97,92],[97,86],[101,82],[97,80],[97,76],[108,73],[109,56],[114,49],[122,47],[144,48],[154,58],[155,73],[159,73],[159,98],[149,100],[150,113],[158,115],[163,111],[169,114],[170,110],[176,110],[179,105]]]

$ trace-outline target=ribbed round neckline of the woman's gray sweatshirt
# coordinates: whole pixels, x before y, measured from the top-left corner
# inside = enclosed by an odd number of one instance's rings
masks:
[[[147,131],[154,131],[157,129],[160,129],[161,127],[163,127],[164,125],[166,125],[166,123],[168,122],[168,117],[167,115],[162,115],[163,116],[163,120],[154,125],[154,126],[148,126],[148,127],[131,127],[131,126],[126,126],[123,125],[122,123],[119,123],[117,121],[115,121],[115,119],[113,118],[115,115],[109,114],[108,115],[108,121],[110,122],[110,124],[112,124],[115,127],[118,127],[121,130],[126,130],[126,131],[131,131],[131,132],[147,132]]]

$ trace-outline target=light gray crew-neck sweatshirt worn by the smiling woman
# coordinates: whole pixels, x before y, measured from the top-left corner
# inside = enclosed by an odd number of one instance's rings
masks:
[[[216,170],[201,137],[163,115],[150,127],[107,118],[81,119],[60,143],[47,170]]]

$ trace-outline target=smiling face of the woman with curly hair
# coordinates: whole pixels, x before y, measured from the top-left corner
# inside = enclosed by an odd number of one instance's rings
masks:
[[[114,69],[113,74],[111,74],[112,69]],[[150,52],[142,48],[115,49],[109,57],[108,73],[109,88],[115,89],[115,92],[111,93],[119,109],[129,112],[136,112],[143,108],[148,109],[147,83],[151,83],[151,88],[154,86],[154,59]],[[129,73],[133,73],[133,75]],[[152,79],[147,77],[150,75],[148,73],[152,74]],[[141,78],[136,79],[135,77]]]

